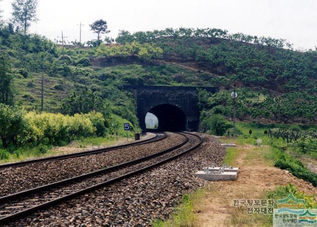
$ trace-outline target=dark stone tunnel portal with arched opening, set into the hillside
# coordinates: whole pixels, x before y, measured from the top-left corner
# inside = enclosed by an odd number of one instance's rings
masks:
[[[212,93],[219,91],[217,87],[125,86],[133,92],[143,131],[146,131],[145,116],[148,112],[158,117],[160,130],[197,131],[200,116],[197,88]]]

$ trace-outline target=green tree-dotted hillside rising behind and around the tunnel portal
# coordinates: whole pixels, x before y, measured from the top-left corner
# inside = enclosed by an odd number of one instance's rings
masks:
[[[314,122],[317,110],[317,52],[293,51],[285,40],[229,34],[219,29],[121,32],[117,44],[62,48],[37,35],[0,31],[2,53],[12,62],[15,103],[41,105],[44,56],[45,107],[60,112],[74,91],[87,87],[117,114],[138,124],[135,102],[123,85],[219,86],[200,92],[202,117],[231,116],[229,93],[239,93],[240,120]]]

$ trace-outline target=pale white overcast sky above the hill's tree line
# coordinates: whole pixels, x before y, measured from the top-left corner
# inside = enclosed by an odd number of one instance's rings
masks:
[[[12,0],[0,2],[4,19]],[[115,38],[118,30],[148,31],[166,27],[221,28],[230,33],[287,39],[295,48],[317,46],[317,0],[38,0],[31,32],[50,39],[61,30],[69,41],[96,36],[89,24],[105,19]]]

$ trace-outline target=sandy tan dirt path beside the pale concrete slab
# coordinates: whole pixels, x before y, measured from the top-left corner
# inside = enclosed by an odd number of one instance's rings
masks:
[[[266,163],[261,153],[267,148],[263,147],[261,149],[263,151],[260,152],[254,148],[254,146],[238,146],[240,152],[236,166],[240,170],[236,181],[217,181],[209,184],[209,190],[200,207],[196,208],[197,226],[234,226],[230,222],[231,214],[237,209],[233,207],[233,199],[265,198],[264,192],[273,190],[277,185],[286,186],[292,183],[306,193],[317,195],[317,188],[311,183]],[[254,226],[257,224],[254,223]]]

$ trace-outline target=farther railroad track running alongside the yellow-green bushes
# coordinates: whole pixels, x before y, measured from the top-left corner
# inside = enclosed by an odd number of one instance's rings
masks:
[[[43,162],[50,162],[50,161],[69,159],[69,158],[75,158],[75,157],[82,157],[82,156],[87,156],[87,155],[95,155],[95,154],[105,153],[108,151],[113,151],[113,150],[117,150],[117,149],[121,149],[121,148],[134,147],[134,146],[138,146],[138,145],[142,145],[142,144],[157,142],[157,141],[165,139],[166,137],[167,137],[167,135],[165,133],[156,133],[155,137],[153,137],[153,138],[149,138],[149,139],[134,142],[134,143],[123,144],[123,145],[119,145],[119,146],[107,147],[107,148],[91,150],[91,151],[83,151],[83,152],[72,153],[72,154],[67,154],[67,155],[58,155],[58,156],[42,158],[42,159],[34,159],[34,160],[28,160],[28,161],[23,161],[23,162],[17,162],[17,163],[3,164],[3,165],[0,165],[0,170],[5,169],[5,168],[10,168],[10,167],[26,166],[26,165],[30,165],[33,163],[43,163]]]

